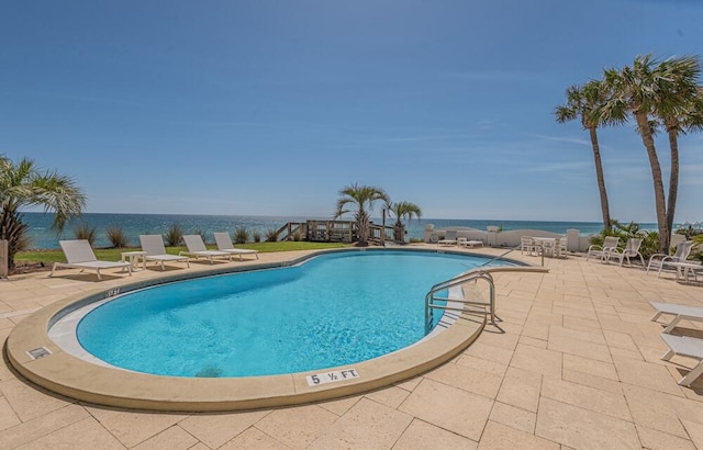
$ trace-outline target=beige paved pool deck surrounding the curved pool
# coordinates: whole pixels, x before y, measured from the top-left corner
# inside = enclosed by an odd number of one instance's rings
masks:
[[[436,248],[436,246],[428,246]],[[442,247],[442,249],[447,249]],[[503,249],[467,252],[500,255]],[[261,254],[283,261],[301,252]],[[511,257],[531,263],[539,258]],[[494,274],[504,333],[488,325],[450,362],[350,397],[241,413],[152,413],[48,393],[0,365],[0,448],[27,449],[703,449],[703,378],[667,350],[649,301],[703,306],[703,286],[585,258],[549,273]],[[208,270],[209,263],[170,271]],[[0,280],[0,336],[37,308],[97,288],[163,275],[60,270]],[[662,322],[662,320],[661,320]],[[679,331],[703,337],[702,323]]]

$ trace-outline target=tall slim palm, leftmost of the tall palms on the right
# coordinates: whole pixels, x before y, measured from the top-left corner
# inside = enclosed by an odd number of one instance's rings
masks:
[[[593,115],[593,112],[606,100],[607,92],[601,82],[592,80],[582,87],[571,86],[567,89],[566,93],[567,104],[557,106],[554,113],[558,123],[580,119],[583,130],[589,131],[589,135],[591,136],[591,146],[593,147],[593,161],[595,164],[598,190],[601,194],[603,226],[606,230],[610,230],[612,228],[611,213],[607,203],[607,192],[605,191],[603,161],[601,160],[601,148],[598,143],[596,132],[600,121]]]

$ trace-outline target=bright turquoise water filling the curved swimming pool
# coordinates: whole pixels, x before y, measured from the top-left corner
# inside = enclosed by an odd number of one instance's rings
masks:
[[[425,335],[424,296],[483,258],[341,252],[303,265],[135,291],[81,319],[110,364],[174,376],[249,376],[349,364]]]

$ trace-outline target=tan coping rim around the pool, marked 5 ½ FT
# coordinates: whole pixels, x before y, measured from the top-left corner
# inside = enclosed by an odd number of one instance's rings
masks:
[[[368,250],[368,251],[367,251]],[[338,398],[388,386],[408,380],[455,358],[481,333],[487,316],[482,308],[454,314],[450,324],[437,327],[420,341],[400,350],[334,368],[261,376],[169,376],[119,369],[97,360],[78,346],[76,323],[59,335],[72,336],[74,344],[64,346],[49,337],[48,330],[60,328],[68,317],[89,305],[110,302],[116,295],[144,288],[167,285],[189,279],[221,275],[239,271],[292,267],[331,252],[371,254],[382,249],[344,249],[267,254],[259,261],[191,266],[189,270],[136,272],[130,279],[96,284],[97,289],[76,292],[56,301],[25,318],[10,333],[5,355],[25,379],[57,394],[123,408],[170,412],[219,412],[268,408]],[[466,250],[408,248],[412,254],[462,254]],[[494,255],[495,252],[493,252]],[[490,273],[545,272],[545,268],[521,265],[487,268]],[[85,288],[88,288],[86,285]],[[266,320],[268,311],[261,311]],[[71,347],[72,346],[72,347]]]

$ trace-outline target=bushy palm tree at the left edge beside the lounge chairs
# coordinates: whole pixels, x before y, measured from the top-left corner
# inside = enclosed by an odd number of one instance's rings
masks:
[[[0,239],[9,241],[9,267],[14,256],[26,245],[27,225],[22,222],[20,209],[42,206],[54,212],[54,228],[63,230],[69,218],[80,215],[86,196],[74,181],[55,171],[42,172],[29,158],[16,165],[0,156]]]

